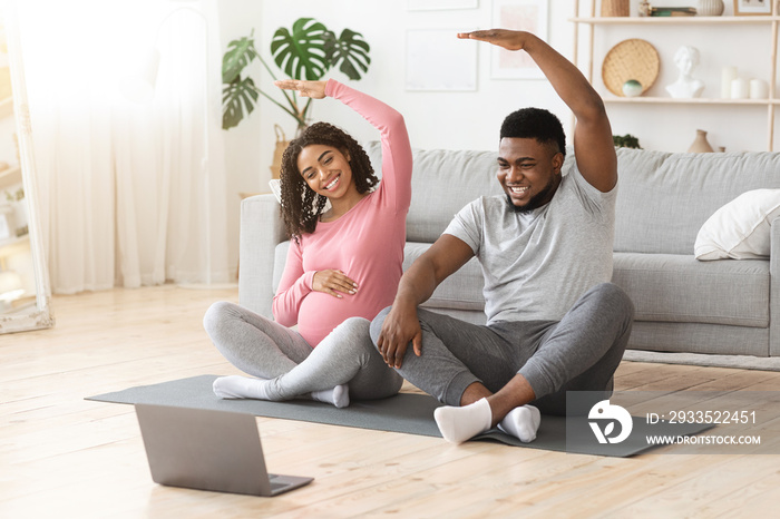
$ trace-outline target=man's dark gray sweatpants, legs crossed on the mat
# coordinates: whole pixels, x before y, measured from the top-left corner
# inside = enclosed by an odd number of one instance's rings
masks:
[[[384,309],[371,323],[379,339]],[[631,334],[634,305],[616,285],[603,283],[583,295],[559,322],[467,323],[423,309],[422,355],[408,347],[398,372],[448,405],[460,405],[466,388],[481,382],[497,392],[516,374],[530,384],[533,402],[565,414],[566,391],[612,390],[613,374]]]

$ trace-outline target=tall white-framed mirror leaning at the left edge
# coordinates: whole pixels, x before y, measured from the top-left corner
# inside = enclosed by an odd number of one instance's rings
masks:
[[[0,19],[0,333],[53,325],[16,11]]]

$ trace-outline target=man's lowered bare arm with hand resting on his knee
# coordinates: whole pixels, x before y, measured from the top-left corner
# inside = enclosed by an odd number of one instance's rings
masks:
[[[464,241],[442,234],[403,273],[392,310],[384,319],[377,340],[377,347],[389,366],[401,368],[410,342],[417,356],[422,354],[422,330],[417,307],[472,256],[474,251]]]

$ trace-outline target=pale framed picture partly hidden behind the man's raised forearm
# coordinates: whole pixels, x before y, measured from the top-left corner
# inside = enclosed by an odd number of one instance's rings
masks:
[[[767,0],[764,0],[767,1]],[[493,27],[526,30],[547,40],[547,0],[493,0]],[[490,49],[494,79],[544,79],[544,74],[526,52]]]

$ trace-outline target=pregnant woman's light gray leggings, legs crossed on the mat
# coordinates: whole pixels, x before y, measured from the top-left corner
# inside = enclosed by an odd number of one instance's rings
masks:
[[[203,317],[214,345],[253,376],[274,379],[279,400],[348,384],[350,398],[398,393],[403,379],[382,360],[369,336],[370,322],[350,317],[312,349],[294,330],[234,303],[214,303]]]

